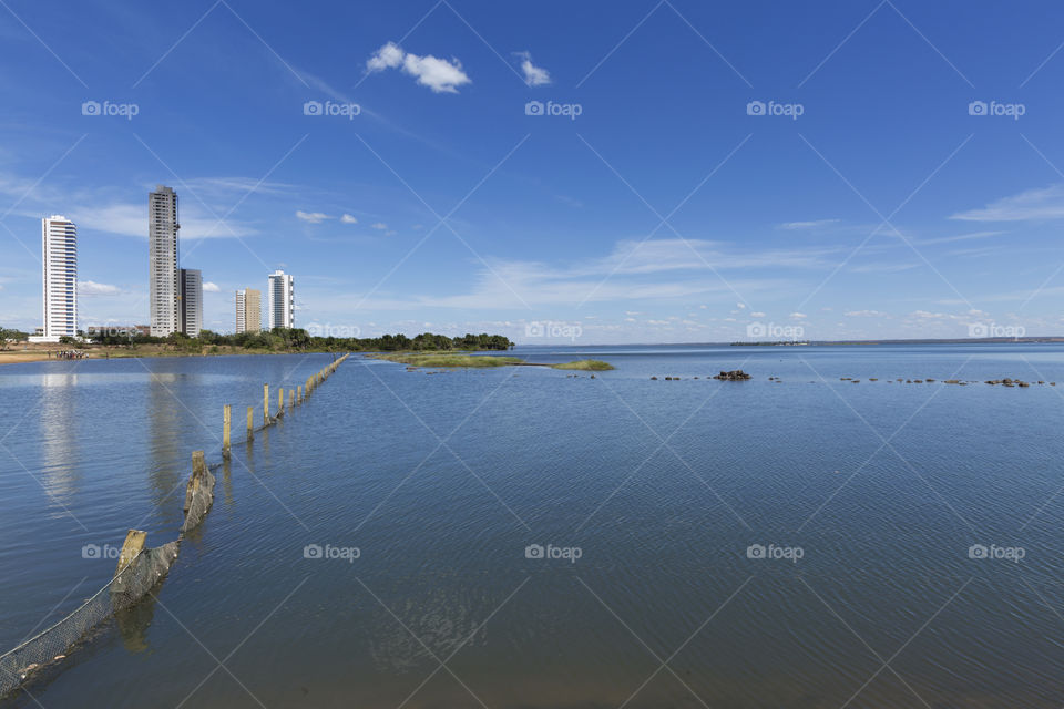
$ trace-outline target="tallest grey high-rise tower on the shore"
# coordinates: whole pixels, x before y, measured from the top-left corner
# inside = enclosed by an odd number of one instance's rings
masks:
[[[177,193],[158,185],[147,197],[149,298],[152,335],[166,337],[181,327],[177,278]]]

